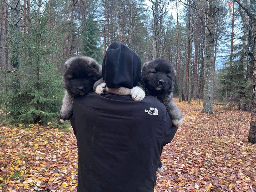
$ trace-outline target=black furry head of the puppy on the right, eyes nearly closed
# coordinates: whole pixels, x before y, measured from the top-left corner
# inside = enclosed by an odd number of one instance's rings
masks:
[[[144,64],[140,81],[151,94],[160,96],[173,91],[175,76],[176,71],[168,60],[155,59]]]

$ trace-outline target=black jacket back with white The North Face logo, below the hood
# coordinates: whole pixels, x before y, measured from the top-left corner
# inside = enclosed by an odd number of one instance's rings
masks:
[[[78,192],[154,192],[163,146],[177,131],[156,97],[90,92],[75,98],[71,124]]]

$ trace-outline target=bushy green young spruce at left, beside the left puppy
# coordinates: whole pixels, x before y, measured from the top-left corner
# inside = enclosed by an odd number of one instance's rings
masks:
[[[20,68],[2,71],[5,79],[0,82],[0,105],[7,123],[47,124],[58,120],[64,90],[55,67],[59,60],[51,60],[51,55],[61,48],[54,46],[59,29],[47,28],[49,19],[47,10],[40,16],[35,10],[31,12],[30,33],[16,34],[22,46],[17,53]]]

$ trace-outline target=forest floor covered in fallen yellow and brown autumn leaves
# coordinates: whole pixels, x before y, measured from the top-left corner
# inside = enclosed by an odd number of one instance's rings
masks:
[[[161,156],[155,191],[256,191],[256,144],[247,142],[250,113],[201,112],[178,102],[183,125]],[[76,191],[76,138],[51,126],[0,126],[0,191]]]

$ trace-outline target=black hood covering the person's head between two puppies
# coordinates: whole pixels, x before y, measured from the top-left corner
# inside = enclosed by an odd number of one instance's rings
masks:
[[[102,63],[103,80],[109,88],[132,89],[140,79],[140,57],[124,44],[114,41]]]

